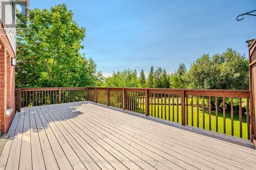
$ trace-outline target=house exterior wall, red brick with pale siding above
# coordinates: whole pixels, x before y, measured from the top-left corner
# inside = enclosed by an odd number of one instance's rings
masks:
[[[7,133],[15,112],[15,66],[11,66],[11,58],[16,55],[16,33],[12,2],[0,0],[0,134]],[[7,109],[13,109],[9,116]]]

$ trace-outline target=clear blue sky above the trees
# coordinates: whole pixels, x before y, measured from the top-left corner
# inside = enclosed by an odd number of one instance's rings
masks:
[[[236,20],[256,9],[255,0],[31,0],[30,8],[63,3],[87,30],[82,53],[104,76],[125,68],[148,72],[151,65],[174,72],[182,62],[189,68],[203,53],[227,47],[248,55],[245,41],[256,38],[256,17]]]

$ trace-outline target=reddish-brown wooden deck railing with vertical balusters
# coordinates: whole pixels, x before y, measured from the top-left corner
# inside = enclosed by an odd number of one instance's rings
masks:
[[[249,90],[72,87],[20,88],[16,94],[18,111],[21,107],[92,101],[184,126],[251,137]]]

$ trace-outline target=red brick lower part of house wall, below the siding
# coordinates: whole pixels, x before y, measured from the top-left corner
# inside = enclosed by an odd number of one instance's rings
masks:
[[[4,134],[8,131],[15,112],[15,66],[11,66],[11,58],[15,57],[15,53],[1,21],[0,30],[0,133]],[[13,112],[6,117],[8,108],[12,108]]]

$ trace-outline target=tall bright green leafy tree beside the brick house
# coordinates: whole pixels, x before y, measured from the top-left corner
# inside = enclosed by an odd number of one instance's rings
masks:
[[[80,54],[85,29],[65,4],[29,10],[17,34],[17,87],[96,86],[102,79],[92,59]],[[17,25],[18,30],[22,25]]]

